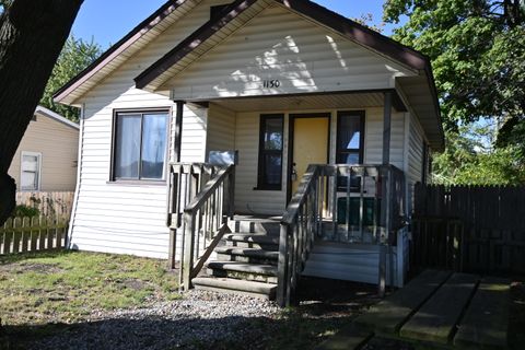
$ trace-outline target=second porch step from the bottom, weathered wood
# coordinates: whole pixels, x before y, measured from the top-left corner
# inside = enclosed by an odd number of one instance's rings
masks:
[[[277,266],[238,261],[211,261],[208,275],[247,281],[277,283]]]

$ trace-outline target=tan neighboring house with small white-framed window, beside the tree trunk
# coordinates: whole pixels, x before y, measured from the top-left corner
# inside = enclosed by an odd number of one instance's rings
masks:
[[[79,125],[37,106],[11,162],[18,191],[73,191]]]

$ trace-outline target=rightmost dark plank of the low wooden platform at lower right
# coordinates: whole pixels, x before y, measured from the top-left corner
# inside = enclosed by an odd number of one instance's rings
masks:
[[[454,345],[459,348],[508,349],[511,281],[486,278],[470,302]]]

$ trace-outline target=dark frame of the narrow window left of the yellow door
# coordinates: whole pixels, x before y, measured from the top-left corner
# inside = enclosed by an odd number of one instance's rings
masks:
[[[266,150],[265,149],[265,131],[266,122],[268,120],[280,120],[281,121],[281,135],[282,142],[280,150]],[[282,171],[284,168],[284,114],[261,114],[259,121],[259,150],[258,150],[258,166],[257,166],[257,187],[256,190],[282,190]],[[265,179],[266,174],[266,155],[276,154],[281,156],[281,166],[280,166],[280,180],[278,185],[268,184]]]

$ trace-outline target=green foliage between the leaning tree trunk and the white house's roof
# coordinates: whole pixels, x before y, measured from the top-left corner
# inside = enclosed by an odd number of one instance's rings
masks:
[[[49,78],[49,81],[47,82],[40,104],[70,120],[79,121],[78,108],[55,104],[52,95],[90,66],[101,56],[101,46],[93,40],[88,43],[82,39],[77,39],[74,36],[70,36],[55,65],[51,78]]]

